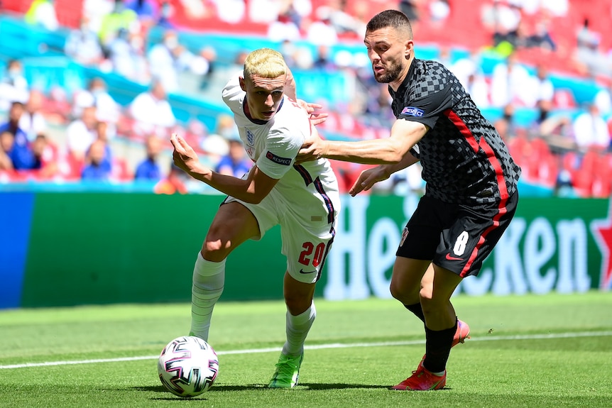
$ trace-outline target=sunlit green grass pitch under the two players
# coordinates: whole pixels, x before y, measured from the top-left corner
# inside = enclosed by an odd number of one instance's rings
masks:
[[[192,399],[165,391],[156,368],[189,330],[189,304],[0,311],[0,407],[612,407],[612,293],[453,303],[471,339],[452,349],[447,387],[397,392],[425,351],[397,301],[317,299],[293,390],[266,388],[283,302],[221,302],[209,338],[219,377]]]

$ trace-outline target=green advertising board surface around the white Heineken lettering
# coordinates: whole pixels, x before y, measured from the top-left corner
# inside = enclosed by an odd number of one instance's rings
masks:
[[[21,306],[189,302],[195,257],[223,199],[220,195],[38,193]],[[353,198],[342,199],[344,231],[337,229],[336,239],[352,243],[359,239],[349,232],[353,227],[348,221]],[[371,231],[378,221],[389,218],[400,233],[410,215],[404,204],[403,197],[368,197],[366,211],[357,221],[365,224],[365,248],[390,245],[373,242]],[[591,287],[596,288],[602,255],[590,226],[592,221],[608,216],[607,199],[523,198],[517,211],[522,221],[517,222],[526,226],[518,248],[498,246],[496,250],[516,249],[523,267],[532,265],[525,251],[525,236],[544,223],[557,243],[540,273],[558,268],[562,261],[559,226],[578,220],[586,235]],[[542,243],[536,240],[532,245]],[[394,248],[387,250],[394,253]],[[483,269],[493,268],[494,254]],[[346,255],[342,272],[346,276],[355,268],[349,258]],[[330,273],[329,260],[326,265],[317,296],[322,295]],[[261,241],[247,241],[229,256],[222,300],[282,298],[285,268],[280,228],[275,227]],[[390,277],[390,268],[385,275]]]

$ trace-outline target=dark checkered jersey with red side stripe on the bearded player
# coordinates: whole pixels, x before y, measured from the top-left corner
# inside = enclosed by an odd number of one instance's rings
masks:
[[[430,127],[410,153],[420,159],[426,192],[443,202],[493,203],[517,189],[520,167],[457,77],[439,62],[413,60],[393,97],[398,119]]]

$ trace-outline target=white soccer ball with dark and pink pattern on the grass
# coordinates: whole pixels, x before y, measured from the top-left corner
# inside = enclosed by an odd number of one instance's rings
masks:
[[[202,338],[182,336],[163,348],[157,367],[166,390],[189,398],[212,387],[219,373],[219,359]]]

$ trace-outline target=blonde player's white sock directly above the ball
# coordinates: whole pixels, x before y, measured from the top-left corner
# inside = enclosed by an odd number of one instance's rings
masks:
[[[225,282],[225,260],[212,262],[197,254],[193,268],[191,288],[191,331],[190,335],[208,341],[208,330],[212,309],[223,292]]]

